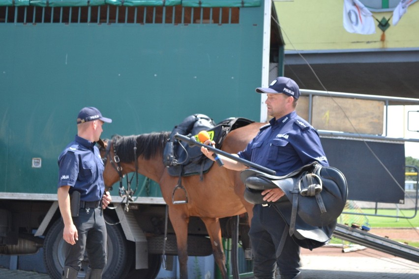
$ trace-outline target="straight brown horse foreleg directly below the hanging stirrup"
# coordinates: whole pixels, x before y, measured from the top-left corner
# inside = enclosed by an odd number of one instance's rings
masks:
[[[169,205],[170,222],[176,234],[180,279],[188,279],[188,223],[189,216],[182,210],[186,205]]]

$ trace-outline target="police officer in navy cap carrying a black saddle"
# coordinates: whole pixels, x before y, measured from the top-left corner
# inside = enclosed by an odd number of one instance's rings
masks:
[[[256,88],[267,93],[268,114],[273,118],[263,126],[246,149],[238,157],[286,175],[306,164],[318,161],[329,166],[316,130],[295,111],[300,96],[299,86],[286,77],[276,78],[268,88]],[[207,144],[209,142],[206,142]],[[213,144],[214,142],[212,142]],[[201,151],[211,160],[212,152],[205,147]],[[219,156],[224,167],[243,170],[245,165],[230,158]],[[263,200],[275,202],[284,192],[280,188],[262,192]],[[249,237],[253,249],[253,274],[255,279],[273,279],[276,266],[282,279],[299,279],[299,246],[287,231],[287,223],[275,206],[256,204]],[[285,241],[281,242],[284,237]],[[280,247],[283,244],[283,247]]]

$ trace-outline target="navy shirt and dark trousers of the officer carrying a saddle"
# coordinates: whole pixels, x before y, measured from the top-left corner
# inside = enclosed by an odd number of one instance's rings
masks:
[[[295,111],[279,119],[271,119],[238,155],[275,170],[276,175],[288,174],[314,161],[329,166],[317,131]],[[283,233],[287,236],[277,257]],[[272,279],[275,262],[281,278],[291,279],[299,274],[299,246],[290,237],[286,222],[273,206],[254,206],[249,236],[254,253],[255,278]]]

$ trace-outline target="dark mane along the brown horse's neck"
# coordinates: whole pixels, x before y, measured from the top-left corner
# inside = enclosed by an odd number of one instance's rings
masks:
[[[114,135],[112,140],[115,141],[115,149],[121,162],[129,163],[136,160],[134,158],[134,146],[137,142],[137,157],[142,155],[145,160],[149,160],[161,154],[170,132],[150,133],[133,136]]]

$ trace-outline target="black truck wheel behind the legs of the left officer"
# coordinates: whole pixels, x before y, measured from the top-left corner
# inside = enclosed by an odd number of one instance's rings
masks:
[[[105,217],[105,219],[107,219]],[[64,240],[62,230],[64,224],[62,219],[57,220],[48,230],[44,241],[44,263],[49,276],[52,279],[61,279],[61,272],[64,266],[64,255],[62,253]],[[103,271],[103,279],[124,278],[129,270],[126,266],[129,263],[128,255],[131,253],[125,240],[120,225],[106,224],[108,232],[108,263]],[[85,278],[89,264],[87,254],[82,261],[82,269],[78,278]]]

